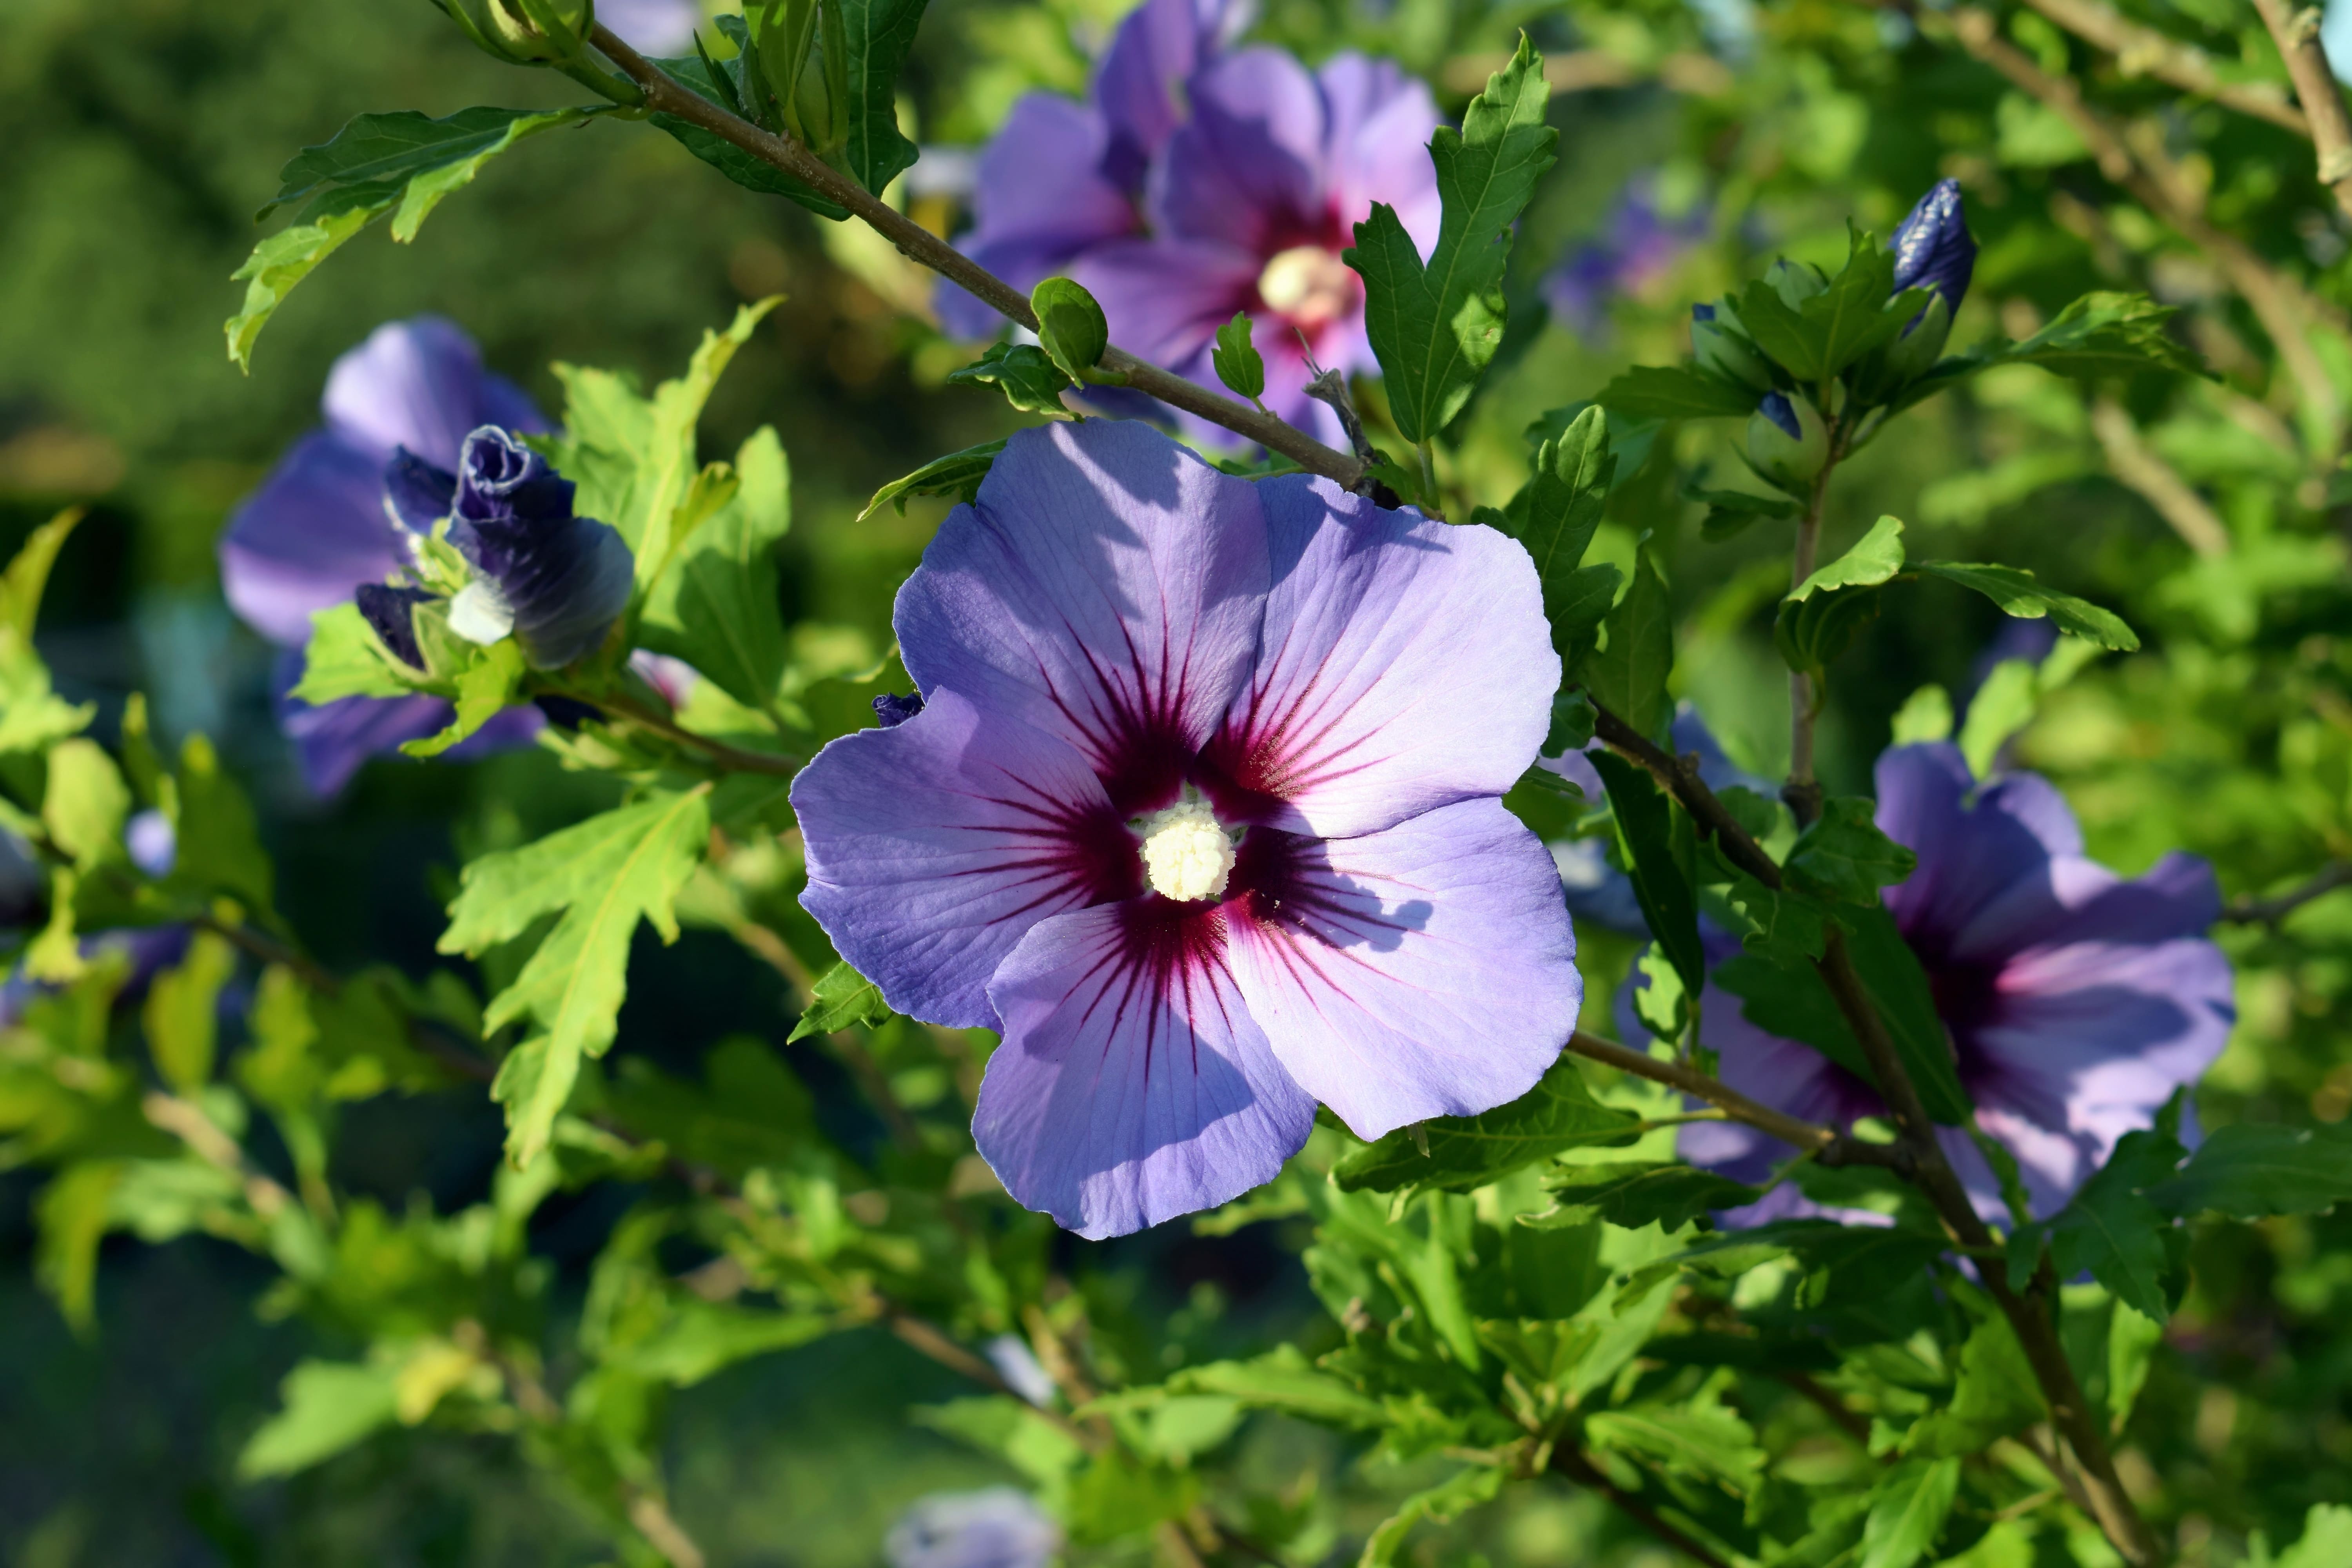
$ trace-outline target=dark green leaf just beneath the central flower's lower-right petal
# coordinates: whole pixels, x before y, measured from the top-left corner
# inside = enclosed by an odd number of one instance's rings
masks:
[[[1331,1180],[1341,1192],[1435,1187],[1470,1192],[1562,1150],[1623,1147],[1642,1119],[1602,1105],[1576,1060],[1562,1056],[1524,1095],[1477,1117],[1435,1117],[1399,1126],[1378,1143],[1341,1154]],[[1421,1145],[1428,1143],[1428,1154]]]

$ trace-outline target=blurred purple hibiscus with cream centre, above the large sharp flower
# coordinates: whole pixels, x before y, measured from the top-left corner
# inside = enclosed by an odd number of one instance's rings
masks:
[[[1112,341],[1211,386],[1216,329],[1249,313],[1265,404],[1336,442],[1338,418],[1305,395],[1308,360],[1378,369],[1341,252],[1376,200],[1423,252],[1437,242],[1437,103],[1362,54],[1310,73],[1279,49],[1216,52],[1214,16],[1150,0],[1120,28],[1094,108],[1023,99],[981,160],[974,256],[1023,287],[1065,270]],[[943,313],[990,329],[962,303]]]

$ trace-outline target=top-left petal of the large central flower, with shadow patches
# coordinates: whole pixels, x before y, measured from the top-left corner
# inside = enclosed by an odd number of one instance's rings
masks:
[[[927,701],[955,689],[1063,738],[1127,816],[1174,799],[1249,675],[1265,590],[1254,484],[1089,418],[1014,433],[898,590],[896,628]]]

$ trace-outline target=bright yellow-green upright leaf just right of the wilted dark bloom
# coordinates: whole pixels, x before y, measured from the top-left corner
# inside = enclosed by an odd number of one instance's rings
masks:
[[[555,367],[564,383],[564,433],[532,444],[579,484],[581,517],[621,531],[637,557],[640,595],[668,571],[673,541],[684,536],[677,522],[701,475],[694,428],[703,404],[736,350],[781,303],[781,296],[762,299],[739,308],[727,331],[703,331],[687,374],[663,381],[652,397],[619,371]]]

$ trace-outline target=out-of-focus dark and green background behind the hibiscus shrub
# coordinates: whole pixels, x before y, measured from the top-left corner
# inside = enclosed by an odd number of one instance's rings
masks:
[[[1025,89],[1082,89],[1089,52],[1122,9],[931,5],[906,99],[927,148],[903,197],[917,216],[957,221],[955,148],[983,141]],[[2147,635],[2145,654],[2049,696],[2013,752],[2065,783],[2093,851],[2117,870],[2187,846],[2244,893],[2343,856],[2345,512],[2298,489],[2312,480],[2279,447],[2286,421],[2265,350],[2249,348],[2253,329],[2225,289],[2147,233],[2145,214],[2110,209],[2096,181],[2070,172],[2079,148],[2053,146],[2030,106],[2011,108],[1987,73],[1865,7],[1270,0],[1258,35],[1308,59],[1392,54],[1451,113],[1519,26],[1555,66],[1576,63],[1552,110],[1562,162],[1515,252],[1505,362],[1449,461],[1461,489],[1505,498],[1524,473],[1522,433],[1590,400],[1618,367],[1682,353],[1691,299],[1783,249],[1835,261],[1849,216],[1886,233],[1933,179],[1959,174],[1985,249],[1955,343],[2023,336],[2089,287],[2154,287],[2192,308],[2192,336],[2232,371],[2234,402],[2136,386],[2129,404],[2216,496],[2234,550],[2197,562],[2110,477],[2086,395],[2032,369],[1987,374],[1865,451],[1842,477],[1830,548],[1898,512],[1919,555],[2032,567]],[[572,96],[557,78],[470,52],[416,0],[0,5],[0,550],[64,503],[92,508],[42,621],[59,684],[101,703],[101,736],[125,696],[146,691],[167,738],[207,731],[221,743],[263,802],[282,907],[334,969],[390,959],[421,973],[459,849],[567,820],[583,788],[524,752],[475,766],[379,762],[336,802],[303,792],[268,717],[270,651],[221,602],[214,541],[315,421],[334,355],[379,322],[440,313],[555,409],[553,362],[626,367],[652,383],[736,303],[786,294],[722,383],[703,440],[731,451],[760,423],[783,435],[788,614],[802,656],[840,670],[887,649],[889,595],[938,520],[917,503],[856,522],[866,498],[1014,421],[990,393],[943,383],[969,353],[929,324],[924,277],[887,247],[739,190],[623,125],[546,136],[494,162],[412,247],[381,230],[360,237],[280,310],[249,378],[228,364],[221,317],[240,299],[228,273],[294,148],[367,108],[442,115]],[[2192,155],[2216,212],[2326,299],[2352,294],[2343,242],[2305,223],[2317,209],[2307,148],[2251,122],[2185,125],[2183,136],[2201,148]],[[1597,552],[1630,564],[1651,534],[1679,607],[1682,696],[1738,762],[1771,773],[1788,729],[1769,646],[1785,541],[1755,529],[1705,543],[1700,508],[1679,496],[1703,470],[1726,480],[1729,435],[1684,430],[1621,489]],[[1832,693],[1832,788],[1867,788],[1891,717],[1922,684],[1966,705],[1994,656],[2039,654],[2030,639],[1997,644],[2002,635],[1973,597],[1907,590]],[[2336,1121],[2352,1110],[2345,903],[2314,905],[2291,936],[2232,938],[2244,1025],[2201,1098],[2209,1121]],[[1630,947],[1590,931],[1585,959],[1606,997]],[[729,1032],[781,1041],[788,1027],[762,966],[689,931],[677,947],[635,954],[619,1048],[684,1070]],[[795,1067],[826,1091],[823,1058]],[[496,1150],[496,1110],[475,1093],[386,1098],[355,1107],[336,1175],[388,1206],[449,1211],[482,1197]],[[31,1284],[31,1175],[0,1173],[0,1559],[600,1561],[593,1526],[487,1441],[405,1432],[287,1483],[238,1486],[235,1453],[275,1406],[278,1378],[320,1347],[256,1312],[259,1265],[200,1239],[108,1244],[101,1328],[78,1340]],[[626,1201],[604,1190],[541,1213],[534,1248],[557,1269],[560,1295],[576,1300]],[[2303,1507],[2352,1465],[2352,1335],[2338,1326],[2352,1302],[2347,1239],[2352,1220],[2321,1218],[2201,1244],[2197,1295],[2129,1455],[2209,1512],[2211,1561],[2239,1561],[2256,1528],[2291,1537]],[[1073,1244],[1070,1267],[1105,1307],[1207,1356],[1263,1335],[1312,1342],[1319,1312],[1294,1248],[1279,1227],[1228,1239],[1167,1227],[1117,1248]],[[2232,1387],[2199,1392],[2192,1375]],[[1004,1479],[903,1420],[910,1403],[953,1392],[946,1373],[880,1335],[750,1361],[677,1399],[675,1509],[715,1563],[873,1563],[908,1500]],[[1263,1441],[1268,1474],[1345,1474],[1348,1455],[1310,1453],[1319,1439],[1275,1425]],[[1345,1483],[1395,1495],[1411,1476]],[[1446,1552],[1456,1556],[1437,1561],[1663,1563],[1564,1488],[1517,1488]]]

